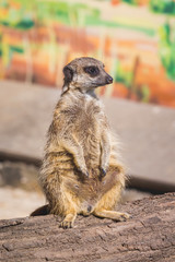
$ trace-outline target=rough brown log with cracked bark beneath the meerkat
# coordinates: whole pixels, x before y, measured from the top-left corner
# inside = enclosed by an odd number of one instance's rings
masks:
[[[0,221],[0,261],[175,262],[175,193],[120,210],[132,218],[79,216],[71,229],[59,228],[54,215]]]

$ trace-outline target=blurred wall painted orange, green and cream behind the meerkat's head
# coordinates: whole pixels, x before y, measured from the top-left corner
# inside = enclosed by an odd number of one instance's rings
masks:
[[[175,0],[0,0],[0,79],[61,86],[81,56],[114,76],[101,94],[175,107]]]

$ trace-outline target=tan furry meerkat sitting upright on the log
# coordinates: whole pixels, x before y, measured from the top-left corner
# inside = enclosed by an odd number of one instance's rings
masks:
[[[114,211],[125,187],[117,143],[95,88],[113,83],[104,64],[90,57],[63,68],[63,87],[47,133],[39,181],[48,205],[33,212],[62,217],[73,227],[78,214],[126,221]]]

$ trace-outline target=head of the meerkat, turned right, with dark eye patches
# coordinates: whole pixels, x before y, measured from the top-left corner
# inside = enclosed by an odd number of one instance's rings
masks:
[[[90,57],[72,60],[63,68],[63,93],[68,90],[89,92],[95,87],[113,83],[113,78],[104,70],[104,64]]]

